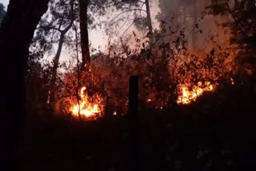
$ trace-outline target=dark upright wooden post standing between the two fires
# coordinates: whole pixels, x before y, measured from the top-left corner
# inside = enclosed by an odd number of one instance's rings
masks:
[[[128,121],[130,128],[129,169],[140,170],[138,141],[138,76],[130,77]]]

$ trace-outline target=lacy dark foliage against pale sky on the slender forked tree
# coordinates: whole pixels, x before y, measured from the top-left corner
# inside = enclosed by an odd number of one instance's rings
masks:
[[[70,22],[78,20],[78,14],[70,13],[70,0],[63,1],[50,1],[47,13],[42,17],[38,24],[38,29],[33,38],[30,47],[30,52],[34,54],[47,53],[52,55],[54,53],[54,44],[58,43],[62,30],[65,30]],[[78,3],[74,3],[74,11],[78,10]],[[66,46],[74,42],[74,35],[70,32],[65,35]],[[41,56],[43,57],[43,55]]]

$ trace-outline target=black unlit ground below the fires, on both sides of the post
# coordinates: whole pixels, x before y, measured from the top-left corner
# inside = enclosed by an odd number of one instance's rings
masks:
[[[175,109],[140,109],[140,170],[256,170],[255,97],[205,94]],[[129,123],[33,114],[22,133],[22,170],[128,170]]]

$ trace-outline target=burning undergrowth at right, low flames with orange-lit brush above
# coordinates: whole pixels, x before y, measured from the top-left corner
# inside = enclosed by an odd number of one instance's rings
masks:
[[[219,46],[209,54],[187,54],[172,62],[170,70],[177,82],[178,104],[189,105],[204,92],[214,92],[224,82],[234,84],[233,60],[234,54],[223,52]]]

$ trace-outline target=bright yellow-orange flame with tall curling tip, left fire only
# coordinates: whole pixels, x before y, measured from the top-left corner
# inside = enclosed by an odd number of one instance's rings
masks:
[[[87,93],[84,93],[86,87],[82,87],[80,90],[81,100],[79,103],[72,105],[70,108],[70,112],[74,116],[86,117],[86,118],[96,118],[102,113],[102,98],[98,97],[98,94],[94,94],[93,100],[94,102],[90,102],[90,97]]]

